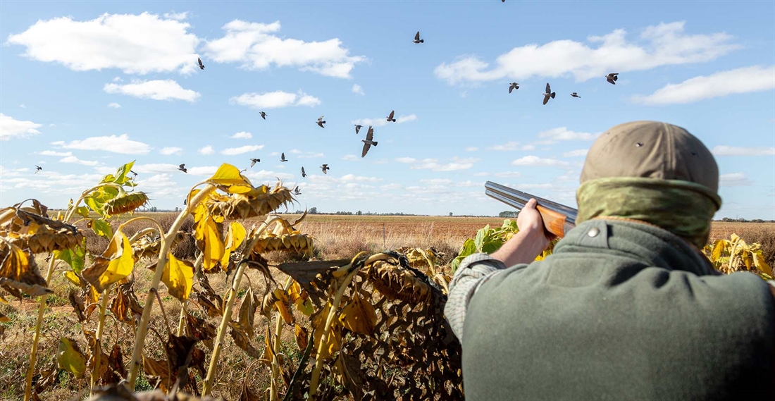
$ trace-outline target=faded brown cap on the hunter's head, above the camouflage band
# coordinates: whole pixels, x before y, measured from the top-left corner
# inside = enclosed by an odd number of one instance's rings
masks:
[[[581,183],[610,177],[691,181],[718,192],[711,151],[680,126],[656,121],[619,124],[592,143]]]

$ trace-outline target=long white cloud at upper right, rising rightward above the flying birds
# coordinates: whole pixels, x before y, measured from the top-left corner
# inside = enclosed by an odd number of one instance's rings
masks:
[[[640,34],[642,43],[628,42],[625,29],[604,36],[589,36],[597,47],[574,40],[555,40],[543,45],[515,47],[495,60],[494,67],[476,56],[460,57],[434,70],[449,85],[462,81],[480,82],[532,77],[565,78],[576,81],[603,79],[609,72],[625,73],[676,64],[701,63],[728,54],[739,46],[730,44],[726,33],[687,35],[684,22],[648,26]]]

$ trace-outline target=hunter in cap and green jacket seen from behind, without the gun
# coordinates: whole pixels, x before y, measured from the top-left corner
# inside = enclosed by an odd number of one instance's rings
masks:
[[[678,126],[634,122],[592,144],[577,226],[553,240],[531,201],[519,232],[466,258],[445,313],[469,400],[773,399],[775,292],[702,254],[718,166]]]

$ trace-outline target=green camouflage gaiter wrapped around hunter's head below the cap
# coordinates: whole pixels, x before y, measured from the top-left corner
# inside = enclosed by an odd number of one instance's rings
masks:
[[[595,217],[620,217],[660,226],[702,249],[722,199],[689,181],[611,177],[586,181],[576,192],[576,224]]]

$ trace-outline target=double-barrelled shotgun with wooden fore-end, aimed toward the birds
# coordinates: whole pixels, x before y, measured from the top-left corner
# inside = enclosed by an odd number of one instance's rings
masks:
[[[560,205],[560,203],[539,198],[518,189],[508,188],[505,185],[496,184],[492,181],[487,181],[484,184],[484,195],[498,199],[517,210],[522,210],[525,207],[525,203],[531,198],[536,199],[538,201],[536,209],[541,213],[546,231],[553,233],[557,237],[565,237],[565,233],[576,226],[578,210],[572,207]]]

